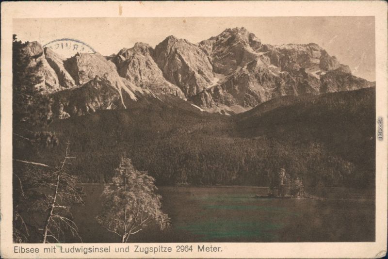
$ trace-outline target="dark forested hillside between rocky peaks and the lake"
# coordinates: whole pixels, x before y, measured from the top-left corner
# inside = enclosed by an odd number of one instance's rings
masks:
[[[279,97],[233,116],[161,98],[54,121],[60,144],[34,161],[49,163],[69,141],[83,182],[109,182],[125,155],[159,186],[268,186],[281,168],[311,187],[374,184],[374,88]]]

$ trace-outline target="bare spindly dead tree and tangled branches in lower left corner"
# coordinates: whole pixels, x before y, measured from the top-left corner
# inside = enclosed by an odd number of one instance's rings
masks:
[[[66,163],[74,158],[69,156],[69,146],[67,143],[65,157],[56,170],[39,163],[22,163],[23,170],[14,172],[18,197],[14,201],[15,242],[63,242],[67,233],[82,241],[70,211],[71,205],[83,204],[83,192],[77,187],[77,178],[66,171]]]

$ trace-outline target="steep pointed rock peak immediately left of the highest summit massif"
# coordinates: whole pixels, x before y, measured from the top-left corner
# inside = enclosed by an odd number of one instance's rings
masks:
[[[187,40],[168,36],[155,47],[155,62],[163,76],[192,97],[214,81],[208,56]]]

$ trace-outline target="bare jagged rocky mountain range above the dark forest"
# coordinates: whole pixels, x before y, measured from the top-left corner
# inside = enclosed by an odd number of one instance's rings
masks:
[[[53,98],[57,118],[128,108],[165,95],[230,115],[276,97],[375,85],[352,75],[317,44],[262,44],[243,27],[198,44],[170,35],[155,48],[136,43],[108,57],[96,52],[64,59],[38,42],[28,42],[23,51],[30,65],[40,62],[44,80],[36,87]]]

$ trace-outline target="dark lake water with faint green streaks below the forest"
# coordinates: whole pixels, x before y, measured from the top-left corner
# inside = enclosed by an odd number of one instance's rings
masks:
[[[74,209],[83,242],[119,240],[98,226],[104,185],[84,185]],[[131,242],[367,242],[374,241],[374,192],[327,188],[323,200],[254,198],[266,187],[160,187],[172,227],[149,227]]]

